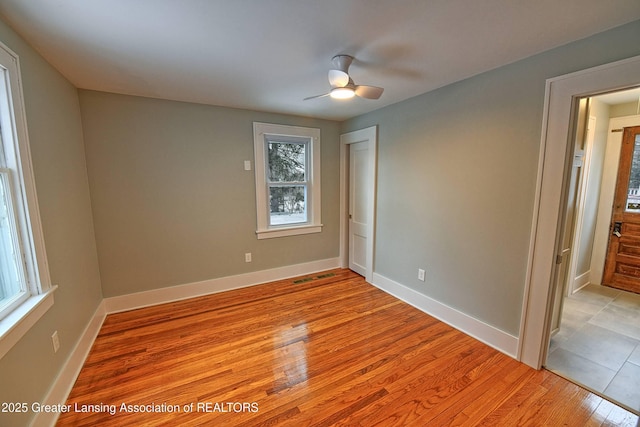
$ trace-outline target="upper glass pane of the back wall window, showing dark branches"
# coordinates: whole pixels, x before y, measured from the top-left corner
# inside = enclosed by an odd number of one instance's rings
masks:
[[[267,151],[270,182],[306,181],[307,144],[269,141]]]

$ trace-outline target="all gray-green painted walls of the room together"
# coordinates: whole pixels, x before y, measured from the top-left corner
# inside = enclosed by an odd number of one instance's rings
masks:
[[[338,256],[339,133],[376,124],[375,271],[517,335],[545,80],[640,55],[637,40],[640,22],[341,125],[78,95],[0,22],[0,41],[21,58],[36,185],[59,286],[53,308],[0,359],[0,401],[44,398],[103,293]],[[253,172],[242,167],[253,159],[253,121],[321,129],[322,234],[255,239]],[[253,253],[252,263],[244,263],[245,252]],[[427,270],[426,283],[417,280],[419,267]],[[62,344],[57,354],[54,330]],[[29,416],[0,414],[0,425],[25,425]]]

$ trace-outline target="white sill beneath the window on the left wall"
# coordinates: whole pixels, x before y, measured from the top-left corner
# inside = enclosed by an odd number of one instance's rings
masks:
[[[0,359],[31,329],[53,306],[53,292],[57,286],[32,296],[0,320]]]

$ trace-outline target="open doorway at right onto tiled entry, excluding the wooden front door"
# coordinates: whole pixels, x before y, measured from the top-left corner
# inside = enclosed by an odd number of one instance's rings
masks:
[[[640,295],[603,286],[621,132],[640,124],[640,91],[582,99],[588,123],[575,144],[563,252],[545,368],[640,411]],[[580,132],[574,132],[580,135]],[[582,150],[580,149],[582,147]],[[569,236],[569,237],[567,237]],[[616,237],[617,238],[617,237]],[[566,246],[566,247],[565,247]]]

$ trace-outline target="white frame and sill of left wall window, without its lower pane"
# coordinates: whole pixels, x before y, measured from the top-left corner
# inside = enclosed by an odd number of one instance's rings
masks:
[[[29,297],[0,319],[0,358],[2,358],[53,305],[53,292],[44,246],[40,210],[22,93],[18,56],[0,43],[0,131],[7,167],[17,173],[15,198],[20,223],[23,256],[28,277]]]

